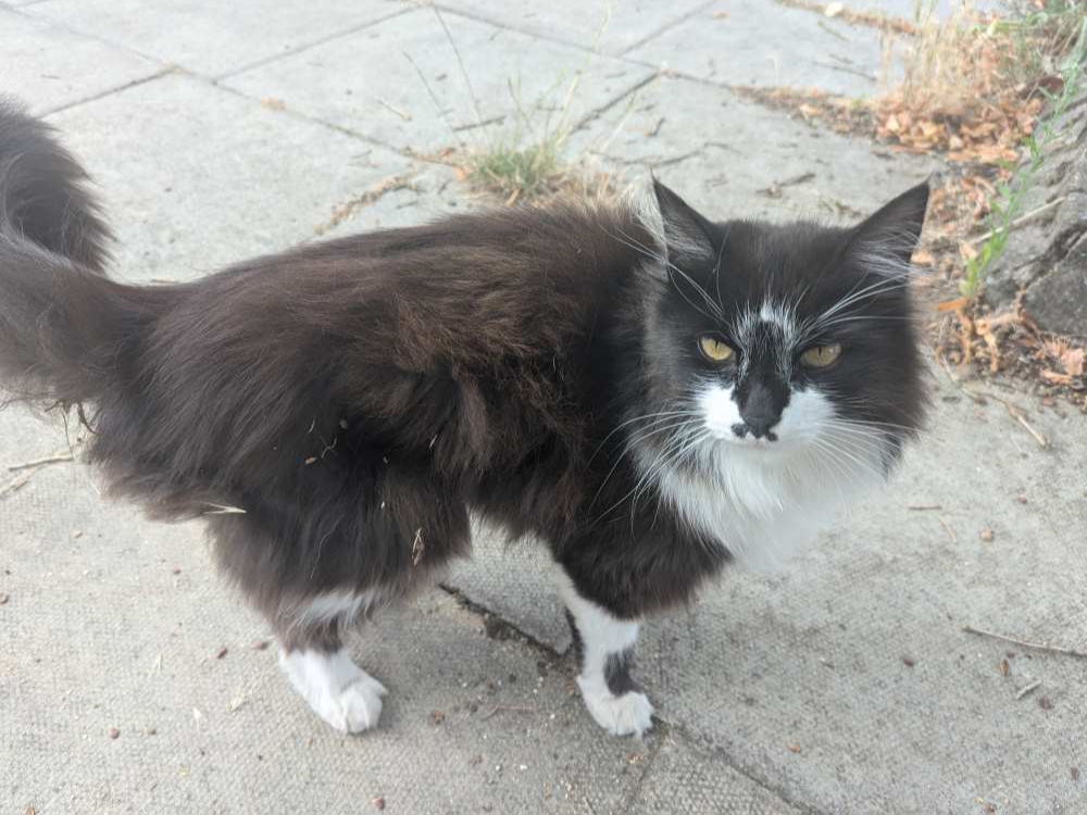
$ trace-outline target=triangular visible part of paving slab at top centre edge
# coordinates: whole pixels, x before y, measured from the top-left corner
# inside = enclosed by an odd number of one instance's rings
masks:
[[[621,54],[704,7],[707,0],[661,3],[653,0],[558,0],[510,3],[503,0],[442,0],[441,7],[467,16],[588,48]]]

